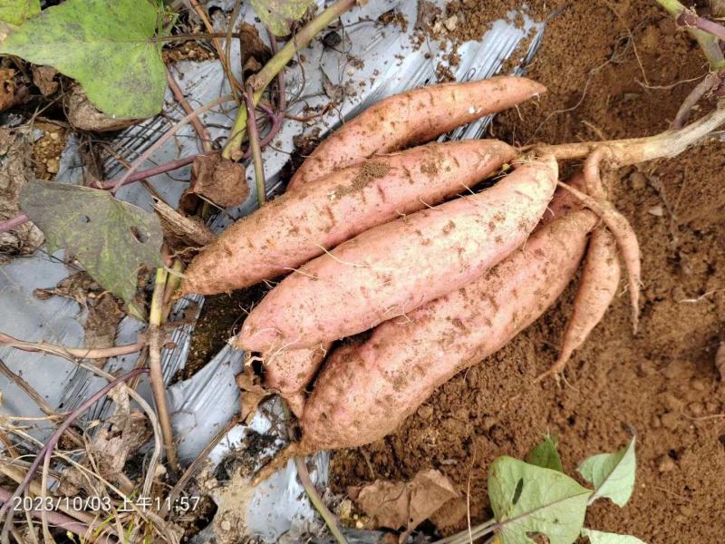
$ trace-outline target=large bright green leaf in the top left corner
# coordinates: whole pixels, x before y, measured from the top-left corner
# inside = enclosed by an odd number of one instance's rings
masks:
[[[111,117],[151,117],[166,89],[157,22],[149,0],[67,0],[14,29],[0,53],[73,77]]]

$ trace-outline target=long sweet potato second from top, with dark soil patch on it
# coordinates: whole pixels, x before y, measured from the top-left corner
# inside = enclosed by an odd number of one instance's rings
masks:
[[[515,157],[502,141],[452,141],[336,171],[227,228],[191,263],[182,294],[222,293],[286,274],[368,228],[467,192]]]

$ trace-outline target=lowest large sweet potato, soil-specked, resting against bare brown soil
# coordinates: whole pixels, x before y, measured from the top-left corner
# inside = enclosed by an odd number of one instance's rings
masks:
[[[487,274],[333,354],[302,419],[297,452],[379,440],[440,384],[495,353],[551,306],[575,274],[598,219],[578,211],[539,229]],[[342,356],[341,356],[342,355]]]

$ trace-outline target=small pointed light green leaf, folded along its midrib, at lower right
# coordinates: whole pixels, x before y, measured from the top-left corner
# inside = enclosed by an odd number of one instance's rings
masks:
[[[594,484],[594,500],[606,497],[623,507],[632,496],[637,460],[634,457],[634,437],[619,452],[593,455],[576,469],[586,481]]]

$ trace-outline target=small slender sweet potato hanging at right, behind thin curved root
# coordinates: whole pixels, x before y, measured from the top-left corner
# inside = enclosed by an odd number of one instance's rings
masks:
[[[604,316],[619,287],[622,271],[616,240],[605,228],[597,228],[589,242],[582,278],[576,291],[574,310],[566,325],[556,362],[536,378],[564,372],[565,364]]]

